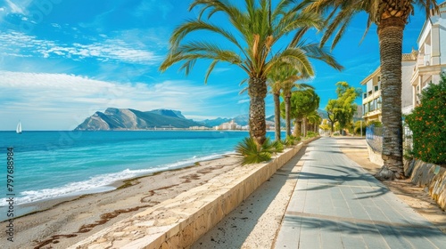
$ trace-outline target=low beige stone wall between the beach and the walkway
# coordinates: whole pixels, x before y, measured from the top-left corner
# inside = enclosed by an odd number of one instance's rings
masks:
[[[236,167],[202,186],[117,222],[70,248],[188,248],[285,165],[302,146],[300,143],[287,149],[266,164]]]

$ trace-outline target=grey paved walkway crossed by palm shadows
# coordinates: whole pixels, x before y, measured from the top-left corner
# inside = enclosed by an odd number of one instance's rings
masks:
[[[313,141],[276,248],[445,248],[446,236],[343,155],[334,138]]]

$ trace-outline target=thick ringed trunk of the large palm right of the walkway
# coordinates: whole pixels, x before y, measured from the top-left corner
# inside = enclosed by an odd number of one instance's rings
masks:
[[[401,124],[401,54],[405,21],[401,18],[381,20],[378,27],[381,57],[384,165],[378,179],[403,178]]]

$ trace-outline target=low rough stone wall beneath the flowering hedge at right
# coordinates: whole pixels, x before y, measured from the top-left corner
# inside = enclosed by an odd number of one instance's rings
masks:
[[[446,210],[446,168],[427,164],[421,160],[412,160],[404,171],[410,175],[412,183],[425,187],[442,210]]]

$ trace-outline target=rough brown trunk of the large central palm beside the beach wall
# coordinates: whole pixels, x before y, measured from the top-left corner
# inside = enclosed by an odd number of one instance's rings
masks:
[[[267,80],[252,77],[249,81],[248,94],[250,96],[250,136],[257,146],[266,140],[267,125],[265,122],[265,97],[267,96]]]

